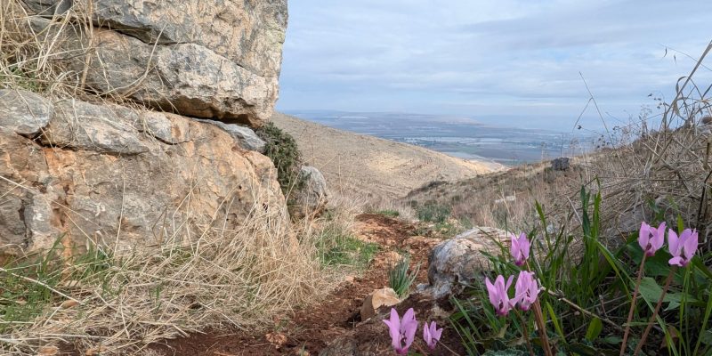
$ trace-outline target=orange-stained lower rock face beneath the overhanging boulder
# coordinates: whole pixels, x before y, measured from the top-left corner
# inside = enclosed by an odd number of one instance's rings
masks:
[[[276,176],[217,125],[0,90],[0,255],[230,233],[255,206],[287,222]]]

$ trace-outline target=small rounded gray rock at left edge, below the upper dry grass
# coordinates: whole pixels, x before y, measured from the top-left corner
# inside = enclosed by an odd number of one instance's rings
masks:
[[[36,93],[0,89],[0,126],[17,134],[39,134],[49,124],[52,102]]]

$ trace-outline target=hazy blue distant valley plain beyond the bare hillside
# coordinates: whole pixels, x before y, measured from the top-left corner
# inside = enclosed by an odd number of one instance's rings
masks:
[[[465,159],[518,166],[584,153],[593,135],[485,125],[473,118],[405,113],[295,110],[289,115],[340,130],[406,142]]]

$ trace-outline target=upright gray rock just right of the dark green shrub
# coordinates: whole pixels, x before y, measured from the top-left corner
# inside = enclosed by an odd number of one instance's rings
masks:
[[[319,169],[302,166],[300,176],[305,180],[303,188],[296,193],[295,205],[290,206],[293,217],[319,216],[328,203],[327,180]]]

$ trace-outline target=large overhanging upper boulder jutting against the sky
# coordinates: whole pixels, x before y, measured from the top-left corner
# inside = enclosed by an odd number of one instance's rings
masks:
[[[99,93],[252,127],[271,117],[286,0],[23,2],[38,29],[58,12],[91,12],[93,36],[63,36],[71,44],[69,68]]]

